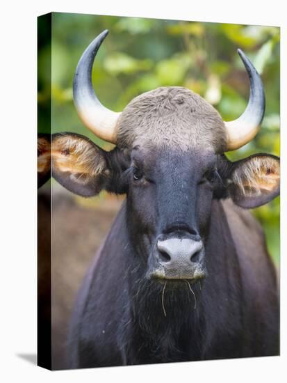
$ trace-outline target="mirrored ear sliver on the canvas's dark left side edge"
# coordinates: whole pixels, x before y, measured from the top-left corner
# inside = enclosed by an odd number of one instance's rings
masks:
[[[51,178],[51,135],[38,134],[38,189]]]

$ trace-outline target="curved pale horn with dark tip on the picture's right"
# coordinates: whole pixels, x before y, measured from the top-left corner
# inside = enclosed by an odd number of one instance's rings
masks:
[[[243,51],[238,49],[237,52],[249,76],[250,95],[243,114],[236,120],[225,122],[227,150],[238,149],[256,136],[265,111],[265,95],[261,77]]]

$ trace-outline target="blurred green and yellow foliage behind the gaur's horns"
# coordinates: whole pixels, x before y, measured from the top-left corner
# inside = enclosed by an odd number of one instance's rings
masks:
[[[39,102],[47,102],[51,86],[53,132],[78,132],[110,147],[83,127],[72,101],[72,79],[79,58],[104,29],[110,34],[99,49],[93,81],[101,102],[114,111],[121,111],[142,92],[177,85],[205,97],[224,120],[237,118],[249,96],[247,74],[236,52],[243,49],[263,79],[265,118],[256,139],[227,155],[232,160],[262,152],[279,155],[280,31],[274,26],[53,13],[51,44],[47,41],[39,52]],[[49,132],[49,118],[41,123],[42,132]],[[279,198],[254,214],[278,265]]]

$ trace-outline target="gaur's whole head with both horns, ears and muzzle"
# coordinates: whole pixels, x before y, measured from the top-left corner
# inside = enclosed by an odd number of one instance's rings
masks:
[[[213,199],[232,198],[254,208],[279,194],[277,157],[260,154],[230,162],[224,155],[259,130],[265,109],[261,79],[238,50],[250,97],[243,115],[231,122],[202,97],[177,86],[139,95],[115,113],[99,102],[91,80],[107,33],[92,41],[79,61],[74,102],[83,123],[116,147],[106,152],[79,134],[54,134],[54,178],[81,196],[101,189],[126,194],[126,225],[147,278],[202,279]]]

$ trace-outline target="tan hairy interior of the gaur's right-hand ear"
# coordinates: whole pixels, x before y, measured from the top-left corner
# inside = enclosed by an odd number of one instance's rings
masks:
[[[280,182],[280,163],[272,157],[253,157],[233,173],[244,195],[272,192]]]

